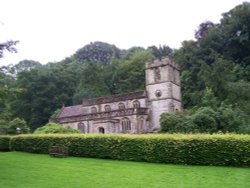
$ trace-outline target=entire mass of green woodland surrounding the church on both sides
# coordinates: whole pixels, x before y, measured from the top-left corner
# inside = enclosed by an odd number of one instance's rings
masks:
[[[239,126],[242,121],[236,117],[237,113],[240,117],[250,114],[249,17],[250,3],[245,2],[224,13],[220,23],[201,23],[195,40],[184,41],[178,50],[166,45],[121,50],[108,43],[93,42],[60,62],[41,65],[24,60],[1,67],[0,130],[19,117],[34,131],[63,105],[143,90],[144,63],[169,56],[179,64],[182,102],[188,111],[187,115],[175,115],[185,120],[178,124],[186,126],[181,132],[247,133],[249,124],[243,122]],[[0,58],[6,50],[15,52],[15,44],[16,41],[0,44]],[[207,88],[213,95],[208,95]],[[221,118],[205,114],[204,107]],[[232,117],[235,120],[231,121]],[[186,125],[187,122],[191,124]]]

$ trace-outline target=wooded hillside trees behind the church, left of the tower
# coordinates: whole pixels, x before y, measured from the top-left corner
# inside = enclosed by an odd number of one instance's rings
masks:
[[[99,43],[91,43],[86,48],[95,48],[97,44]],[[114,48],[106,43],[101,46]],[[104,52],[105,50],[102,51]],[[77,53],[85,51],[79,50]],[[0,108],[0,116],[5,116],[3,125],[20,117],[26,120],[31,130],[35,130],[46,124],[55,110],[63,105],[144,89],[144,63],[153,58],[152,50],[131,48],[120,51],[120,55],[121,58],[111,56],[108,62],[80,62],[74,55],[61,62],[43,66],[35,61],[24,60],[15,66],[2,67],[2,86],[20,88],[20,92],[13,96],[6,93],[2,100],[3,111],[1,113]]]

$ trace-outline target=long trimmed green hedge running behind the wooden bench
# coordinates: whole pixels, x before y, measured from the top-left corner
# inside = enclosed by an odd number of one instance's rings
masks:
[[[250,166],[250,135],[19,135],[11,150],[48,153],[53,145],[69,155],[189,165]]]

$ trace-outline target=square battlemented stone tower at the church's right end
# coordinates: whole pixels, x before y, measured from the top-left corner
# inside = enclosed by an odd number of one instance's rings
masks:
[[[180,71],[168,58],[146,63],[146,91],[150,109],[150,128],[160,128],[163,112],[180,111]]]

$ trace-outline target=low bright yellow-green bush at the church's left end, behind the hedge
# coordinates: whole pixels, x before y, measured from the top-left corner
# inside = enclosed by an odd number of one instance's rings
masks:
[[[78,130],[72,129],[71,127],[63,127],[56,123],[47,123],[43,127],[35,130],[34,134],[49,134],[49,133],[60,133],[60,134],[72,134],[79,133]]]

